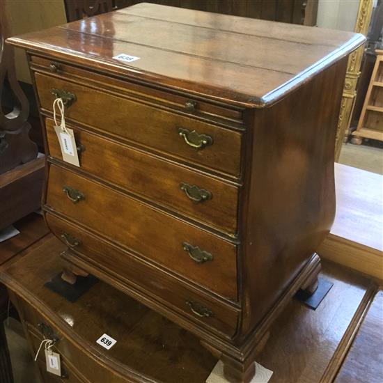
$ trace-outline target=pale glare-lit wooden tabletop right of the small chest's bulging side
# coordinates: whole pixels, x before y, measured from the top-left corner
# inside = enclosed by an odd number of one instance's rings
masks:
[[[383,177],[335,164],[336,215],[318,253],[383,279]]]

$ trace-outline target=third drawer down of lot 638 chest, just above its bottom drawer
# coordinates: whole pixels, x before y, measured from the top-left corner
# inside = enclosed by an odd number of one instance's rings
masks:
[[[73,203],[63,190],[74,189]],[[46,208],[139,257],[237,301],[237,247],[217,235],[60,166],[49,166]],[[70,240],[68,240],[70,246]]]

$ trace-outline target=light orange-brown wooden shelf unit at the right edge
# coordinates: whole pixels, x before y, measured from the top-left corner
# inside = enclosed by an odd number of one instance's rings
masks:
[[[363,138],[383,141],[383,51],[376,51],[376,61],[352,143]]]

